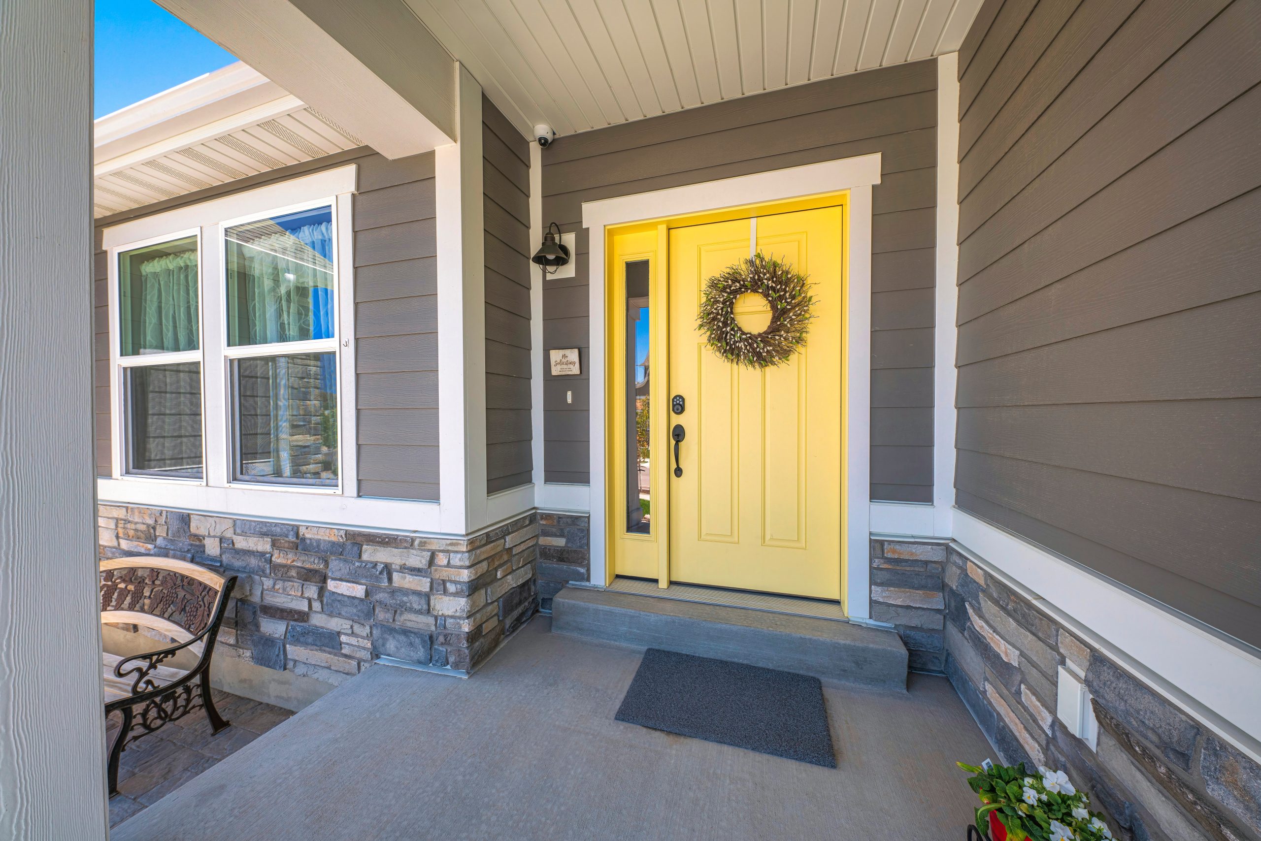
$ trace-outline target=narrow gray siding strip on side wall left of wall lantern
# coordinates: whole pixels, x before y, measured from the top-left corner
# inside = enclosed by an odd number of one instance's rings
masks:
[[[530,142],[482,97],[487,493],[533,480]]]

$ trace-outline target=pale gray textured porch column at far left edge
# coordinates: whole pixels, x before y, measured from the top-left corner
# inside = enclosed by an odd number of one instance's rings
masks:
[[[0,3],[0,838],[103,838],[92,4]]]

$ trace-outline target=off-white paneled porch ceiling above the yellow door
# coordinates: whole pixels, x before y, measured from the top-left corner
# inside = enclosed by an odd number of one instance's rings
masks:
[[[523,132],[956,52],[982,0],[406,0]]]

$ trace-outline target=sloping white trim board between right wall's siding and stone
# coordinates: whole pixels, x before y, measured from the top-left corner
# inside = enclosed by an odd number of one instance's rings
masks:
[[[1261,762],[1261,659],[1081,565],[955,509],[957,548]]]

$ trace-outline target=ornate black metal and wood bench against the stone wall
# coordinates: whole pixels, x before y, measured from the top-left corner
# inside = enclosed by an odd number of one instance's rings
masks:
[[[174,642],[159,651],[102,656],[105,715],[122,724],[110,744],[110,794],[119,793],[124,748],[168,721],[204,709],[213,733],[228,722],[211,697],[211,654],[236,576],[166,557],[101,561],[101,622],[139,625]],[[190,670],[163,666],[182,651],[197,656]]]

